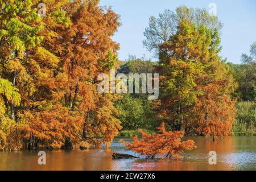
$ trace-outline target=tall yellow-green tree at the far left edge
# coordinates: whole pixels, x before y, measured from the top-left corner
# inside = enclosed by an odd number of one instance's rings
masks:
[[[42,42],[43,37],[39,32],[43,24],[32,1],[0,1],[0,7],[0,77],[5,80],[2,80],[3,89],[6,86],[9,89],[2,93],[5,118],[1,118],[1,126],[8,126],[6,122],[10,122],[10,130],[6,130],[6,134],[11,132],[13,135],[7,138],[7,143],[16,140],[9,150],[18,150],[22,148],[22,138],[18,136],[22,135],[23,126],[20,111],[26,107],[36,88],[35,65],[30,55],[35,53],[36,47]],[[7,92],[11,95],[8,96]],[[18,95],[21,100],[17,102],[15,98]]]

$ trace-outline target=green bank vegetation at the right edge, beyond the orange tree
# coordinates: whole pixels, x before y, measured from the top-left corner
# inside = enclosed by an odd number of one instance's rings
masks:
[[[236,135],[256,134],[256,43],[251,45],[250,55],[242,54],[242,64],[228,63],[237,82],[233,97],[238,102],[233,132]]]

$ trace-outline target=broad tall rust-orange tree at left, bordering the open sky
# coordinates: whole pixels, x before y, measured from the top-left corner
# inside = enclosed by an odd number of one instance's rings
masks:
[[[50,148],[72,148],[80,142],[81,148],[109,146],[121,125],[114,117],[116,97],[97,93],[97,76],[117,63],[118,44],[110,37],[119,26],[119,16],[98,7],[98,1],[47,5],[41,52],[51,50],[52,54],[38,58],[51,57],[53,65],[48,65],[47,74],[39,80],[36,98],[40,100],[34,102],[37,117],[30,119],[33,133],[39,131],[36,138]]]

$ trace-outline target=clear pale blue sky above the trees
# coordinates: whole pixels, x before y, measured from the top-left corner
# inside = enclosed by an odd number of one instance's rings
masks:
[[[151,15],[158,16],[165,9],[175,10],[177,6],[199,7],[209,10],[209,4],[217,5],[217,16],[224,23],[222,28],[222,57],[229,62],[240,63],[242,53],[249,53],[250,45],[256,41],[255,0],[101,0],[101,6],[112,6],[121,15],[122,27],[114,36],[121,45],[119,59],[135,55],[156,60],[143,47],[143,32]]]

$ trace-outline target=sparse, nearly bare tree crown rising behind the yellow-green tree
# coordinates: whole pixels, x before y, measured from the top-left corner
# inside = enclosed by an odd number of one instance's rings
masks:
[[[222,23],[217,16],[209,15],[206,9],[193,9],[186,6],[177,7],[176,11],[165,10],[158,17],[151,16],[148,27],[144,31],[146,40],[143,40],[144,46],[148,51],[154,51],[156,56],[163,53],[159,46],[167,42],[171,36],[175,35],[178,24],[183,22],[194,22],[197,27],[204,24],[210,30],[221,30]]]

